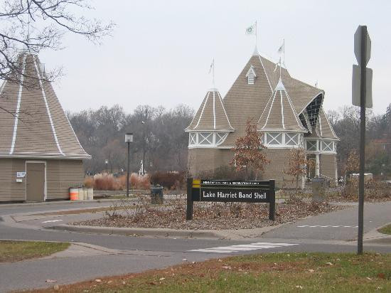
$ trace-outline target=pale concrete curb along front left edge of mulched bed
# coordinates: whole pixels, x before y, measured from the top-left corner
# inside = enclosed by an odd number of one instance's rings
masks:
[[[117,227],[95,227],[82,225],[54,225],[48,229],[98,234],[116,234],[130,236],[150,236],[164,238],[212,238],[221,239],[222,235],[211,230],[175,230],[168,228],[117,228]]]

